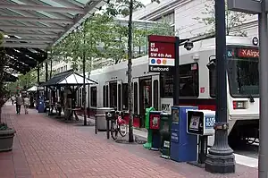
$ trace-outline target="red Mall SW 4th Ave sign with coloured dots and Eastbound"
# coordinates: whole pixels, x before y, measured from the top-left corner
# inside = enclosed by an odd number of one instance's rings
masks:
[[[175,66],[175,38],[149,36],[149,72],[169,72]]]

